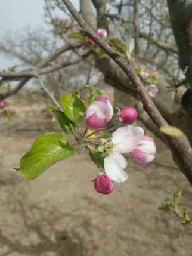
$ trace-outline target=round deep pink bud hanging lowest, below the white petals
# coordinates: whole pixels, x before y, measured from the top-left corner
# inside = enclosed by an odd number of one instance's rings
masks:
[[[101,194],[110,194],[113,191],[114,183],[106,174],[98,175],[94,182],[95,190]]]

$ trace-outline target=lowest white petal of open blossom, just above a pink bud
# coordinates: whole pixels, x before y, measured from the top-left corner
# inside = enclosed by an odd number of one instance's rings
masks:
[[[109,154],[104,159],[104,168],[106,174],[113,180],[119,183],[122,183],[128,179],[128,174],[123,171],[120,167],[120,164],[113,157],[113,154]]]

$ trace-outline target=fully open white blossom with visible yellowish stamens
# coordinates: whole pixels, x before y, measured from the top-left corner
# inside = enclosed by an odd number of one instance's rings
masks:
[[[132,152],[143,137],[143,128],[126,125],[116,129],[112,139],[103,143],[104,152],[109,153],[104,158],[104,171],[111,180],[122,183],[128,179],[128,174],[123,170],[128,163],[122,154]]]

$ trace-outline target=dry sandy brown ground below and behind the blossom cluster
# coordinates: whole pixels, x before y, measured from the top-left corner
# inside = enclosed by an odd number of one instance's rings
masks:
[[[191,256],[192,226],[158,207],[181,189],[192,214],[192,189],[158,140],[155,161],[129,161],[129,181],[116,184],[112,195],[95,193],[89,181],[97,167],[86,153],[36,180],[14,171],[39,133],[57,129],[42,102],[36,95],[12,98],[17,118],[0,118],[0,255]]]

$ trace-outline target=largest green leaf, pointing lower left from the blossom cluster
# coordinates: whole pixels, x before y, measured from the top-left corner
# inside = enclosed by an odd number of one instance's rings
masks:
[[[29,152],[20,160],[17,169],[25,178],[33,179],[42,174],[49,166],[75,153],[63,135],[46,133],[39,135]]]

